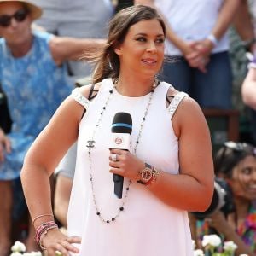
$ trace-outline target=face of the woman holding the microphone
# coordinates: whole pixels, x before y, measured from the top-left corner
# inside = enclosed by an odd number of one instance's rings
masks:
[[[159,72],[164,58],[165,36],[156,19],[132,25],[125,40],[115,48],[119,55],[120,73],[150,78]]]

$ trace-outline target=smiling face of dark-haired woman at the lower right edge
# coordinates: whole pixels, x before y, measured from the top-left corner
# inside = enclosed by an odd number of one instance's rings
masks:
[[[256,158],[253,155],[248,155],[233,168],[229,183],[235,196],[256,199]]]

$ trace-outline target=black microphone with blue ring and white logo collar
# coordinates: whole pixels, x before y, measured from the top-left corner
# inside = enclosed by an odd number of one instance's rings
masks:
[[[110,148],[128,150],[131,148],[132,119],[130,113],[118,112],[113,117],[111,126],[112,141]],[[114,194],[122,198],[124,177],[113,174]]]

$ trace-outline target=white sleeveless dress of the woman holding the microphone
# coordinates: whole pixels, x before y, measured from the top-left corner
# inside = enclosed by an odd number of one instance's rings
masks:
[[[166,109],[166,93],[170,86],[162,82],[155,89],[137,146],[137,156],[156,168],[178,175],[178,139],[171,118],[179,102],[187,95],[178,93]],[[131,183],[125,210],[120,212],[114,222],[106,224],[96,215],[86,144],[91,139],[91,133],[112,88],[112,80],[104,79],[92,102],[82,99],[79,89],[73,91],[74,98],[86,108],[86,113],[79,126],[77,165],[68,211],[68,234],[82,236],[79,255],[83,256],[190,256],[193,253],[187,212],[167,206],[142,184]],[[117,112],[131,113],[131,141],[134,148],[149,95],[128,97],[113,89],[96,132],[91,165],[96,204],[105,219],[113,218],[122,203],[122,199],[113,194],[113,174],[108,172],[108,145],[113,116]],[[124,188],[125,184],[126,179]]]

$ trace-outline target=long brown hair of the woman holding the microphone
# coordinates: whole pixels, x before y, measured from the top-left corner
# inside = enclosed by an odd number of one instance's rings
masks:
[[[119,56],[114,52],[114,46],[122,44],[129,28],[142,20],[156,19],[162,26],[164,35],[166,36],[166,26],[157,11],[151,7],[143,5],[134,5],[122,9],[113,16],[109,22],[108,41],[102,51],[90,58],[96,63],[92,83],[96,84],[102,79],[119,77],[120,62]]]

